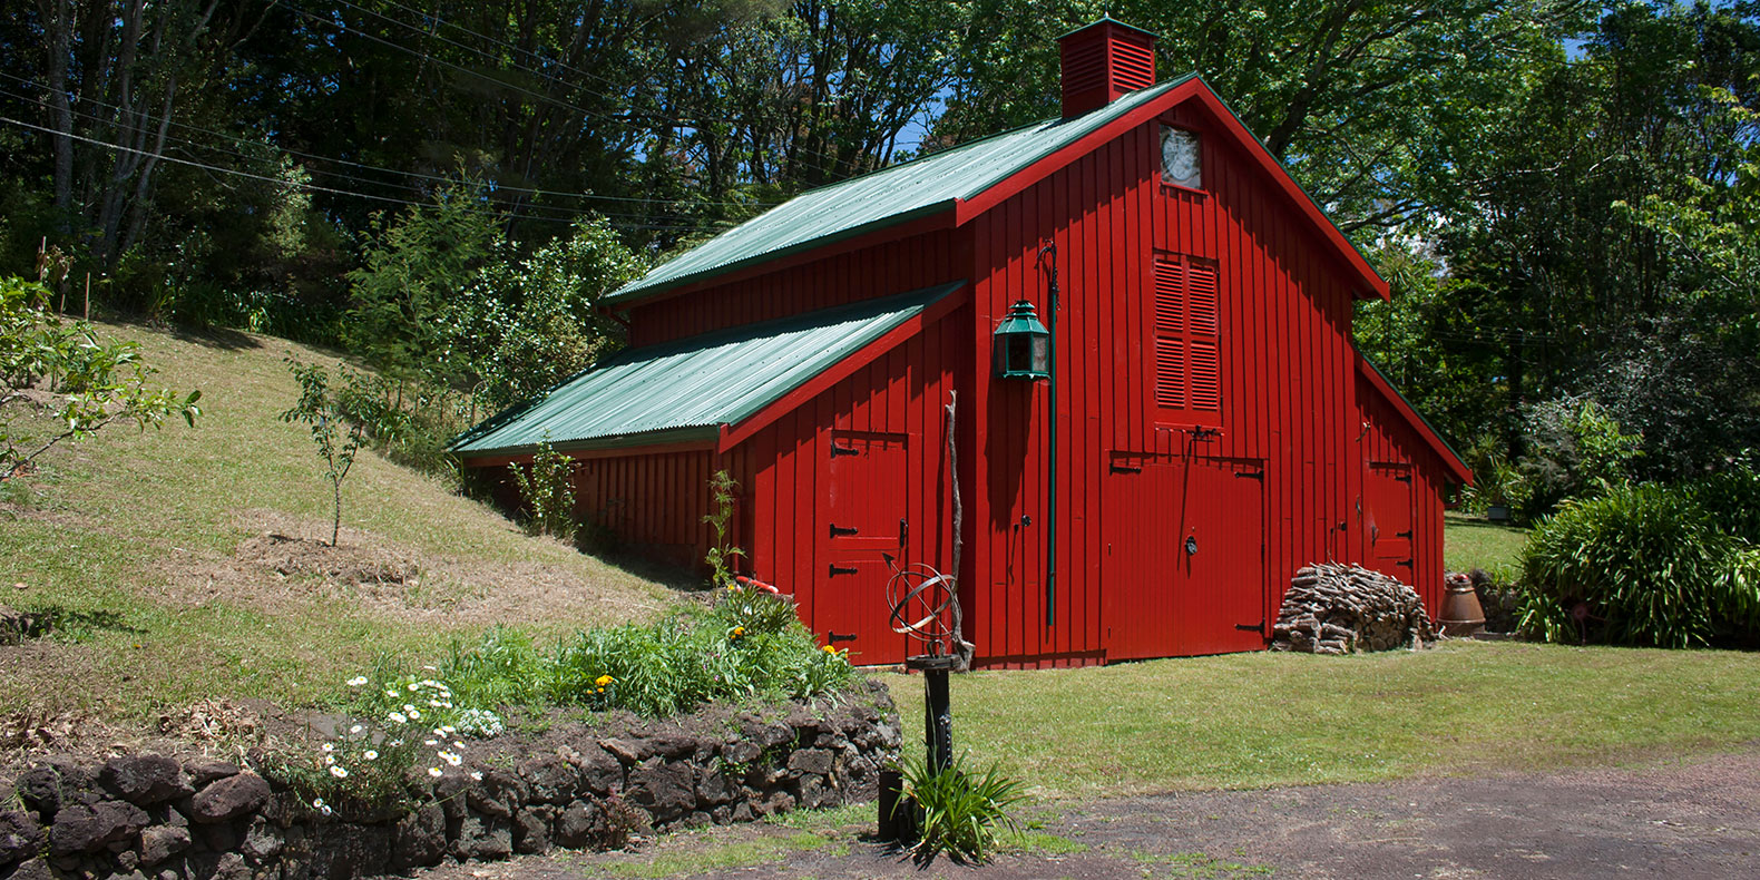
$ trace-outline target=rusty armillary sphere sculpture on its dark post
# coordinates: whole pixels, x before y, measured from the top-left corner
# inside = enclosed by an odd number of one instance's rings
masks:
[[[906,669],[922,672],[922,727],[929,766],[936,771],[954,762],[954,711],[947,699],[947,674],[959,664],[959,591],[954,579],[915,563],[899,567],[891,554],[892,577],[885,584],[892,605],[892,632],[924,642],[926,655],[905,658]]]

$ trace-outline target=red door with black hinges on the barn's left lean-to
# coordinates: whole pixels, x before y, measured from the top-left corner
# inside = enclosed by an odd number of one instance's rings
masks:
[[[905,561],[905,435],[832,431],[822,463],[813,630],[861,665],[905,662],[905,637],[887,623],[885,556]]]

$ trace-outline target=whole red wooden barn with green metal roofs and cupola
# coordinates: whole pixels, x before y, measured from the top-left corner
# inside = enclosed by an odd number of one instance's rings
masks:
[[[882,553],[952,565],[956,480],[979,665],[1248,651],[1309,561],[1436,612],[1441,493],[1470,473],[1352,347],[1352,301],[1385,296],[1204,81],[1155,84],[1153,39],[1102,19],[1063,37],[1061,118],[653,269],[611,297],[625,352],[456,451],[505,466],[547,438],[583,517],[685,563],[727,470],[746,570],[862,664],[906,653]],[[1030,350],[1021,301],[1045,378],[1000,363]]]

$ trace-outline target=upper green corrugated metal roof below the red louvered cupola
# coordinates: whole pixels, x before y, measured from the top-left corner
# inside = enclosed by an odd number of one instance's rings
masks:
[[[873,174],[803,192],[656,266],[646,276],[607,296],[605,303],[641,299],[644,294],[737,266],[950,209],[957,201],[977,197],[1033,162],[1074,144],[1193,76],[1186,74],[1153,88],[1132,92],[1105,107],[1070,120],[1038,121]]]

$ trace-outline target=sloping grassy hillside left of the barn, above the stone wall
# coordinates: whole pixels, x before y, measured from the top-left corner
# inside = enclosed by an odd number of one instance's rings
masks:
[[[343,484],[341,553],[287,540],[327,540],[331,496],[304,426],[276,419],[297,396],[282,359],[334,356],[238,333],[104,331],[139,341],[164,384],[202,389],[206,414],[194,429],[58,447],[0,489],[0,604],[56,620],[51,637],[0,648],[0,718],[301,704],[382,651],[421,662],[495,623],[544,635],[671,602],[370,452]]]

